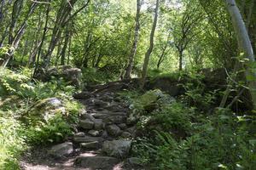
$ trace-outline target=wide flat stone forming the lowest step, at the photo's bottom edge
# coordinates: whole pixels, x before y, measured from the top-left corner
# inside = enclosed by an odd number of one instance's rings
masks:
[[[88,168],[90,170],[113,170],[113,167],[118,162],[118,159],[108,156],[80,156],[76,159],[75,165],[78,167]]]

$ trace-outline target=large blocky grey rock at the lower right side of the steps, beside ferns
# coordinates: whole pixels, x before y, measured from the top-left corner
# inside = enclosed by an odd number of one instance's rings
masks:
[[[131,140],[105,141],[102,145],[102,150],[108,156],[124,158],[129,155],[131,150]]]

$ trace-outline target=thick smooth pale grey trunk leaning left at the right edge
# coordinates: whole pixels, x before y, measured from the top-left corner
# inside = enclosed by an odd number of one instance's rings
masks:
[[[236,6],[235,0],[225,0],[228,11],[230,13],[234,29],[236,31],[236,37],[239,44],[241,52],[244,57],[249,60],[250,63],[255,62],[253,47],[250,42],[250,38],[247,33],[247,28],[242,20],[239,8]],[[247,84],[252,95],[253,108],[256,109],[256,73],[247,66],[246,71]]]

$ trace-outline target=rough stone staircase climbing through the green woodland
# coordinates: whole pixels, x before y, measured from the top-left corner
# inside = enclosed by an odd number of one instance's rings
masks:
[[[49,153],[57,157],[76,153],[75,169],[143,169],[136,157],[129,158],[136,126],[129,122],[128,105],[108,92],[83,93],[79,100],[86,109],[81,113],[77,133],[69,142],[53,146]]]

